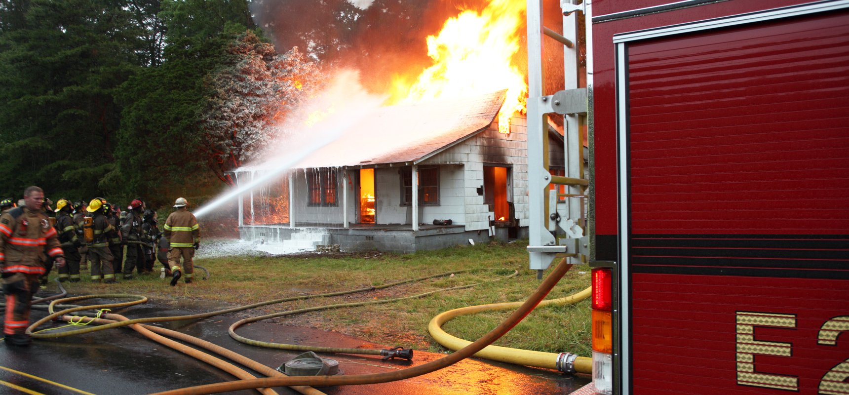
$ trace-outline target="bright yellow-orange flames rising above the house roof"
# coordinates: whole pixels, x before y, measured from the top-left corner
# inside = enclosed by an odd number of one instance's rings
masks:
[[[427,37],[428,55],[434,61],[408,84],[393,82],[393,103],[418,103],[508,89],[498,115],[498,131],[510,133],[515,111],[526,111],[525,77],[512,65],[520,49],[520,29],[525,22],[524,0],[492,0],[480,12],[466,9]]]

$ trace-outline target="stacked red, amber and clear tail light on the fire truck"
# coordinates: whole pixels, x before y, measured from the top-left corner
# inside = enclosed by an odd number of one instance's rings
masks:
[[[610,268],[593,268],[593,387],[613,393],[613,289]]]

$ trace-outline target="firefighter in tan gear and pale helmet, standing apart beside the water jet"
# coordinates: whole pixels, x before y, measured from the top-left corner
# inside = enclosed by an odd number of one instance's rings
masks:
[[[200,225],[194,214],[186,210],[188,201],[177,198],[174,206],[176,212],[171,212],[165,221],[164,234],[169,242],[171,250],[168,251],[168,264],[171,266],[171,286],[177,285],[177,280],[182,274],[186,276],[186,284],[192,282],[194,277],[194,265],[192,258],[194,250],[200,248]],[[183,265],[180,264],[183,257]]]

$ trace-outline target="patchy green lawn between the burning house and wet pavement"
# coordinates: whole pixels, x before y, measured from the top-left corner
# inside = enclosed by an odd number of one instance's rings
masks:
[[[418,295],[458,285],[482,283],[475,287],[444,291],[435,295],[401,302],[337,308],[275,319],[288,325],[334,330],[364,340],[424,349],[445,349],[427,332],[427,324],[436,314],[453,308],[488,303],[524,301],[540,284],[536,271],[527,268],[526,242],[458,246],[440,251],[422,251],[410,255],[373,252],[341,254],[330,257],[219,257],[197,259],[195,264],[210,270],[211,278],[171,287],[168,281],[153,276],[121,281],[116,285],[94,284],[87,280],[68,284],[71,295],[130,293],[148,296],[154,302],[171,303],[181,308],[211,311],[288,296],[346,291],[368,286],[473,268],[499,268],[459,273],[453,277],[428,279],[396,285],[377,291],[346,296],[314,298],[255,308],[239,313],[253,316],[295,308],[350,302],[365,302],[392,297]],[[157,264],[157,270],[159,265]],[[514,270],[519,274],[505,279]],[[587,272],[579,274],[578,272]],[[566,273],[547,299],[571,295],[589,285],[589,269],[576,265]],[[548,272],[547,272],[548,273]],[[202,272],[196,270],[200,276]],[[55,272],[53,273],[53,276]],[[87,273],[83,273],[83,278]],[[51,289],[55,285],[50,285]],[[473,341],[498,325],[510,311],[478,313],[449,321],[443,329],[453,336]],[[589,302],[574,306],[538,308],[495,344],[549,353],[572,352],[590,356]]]

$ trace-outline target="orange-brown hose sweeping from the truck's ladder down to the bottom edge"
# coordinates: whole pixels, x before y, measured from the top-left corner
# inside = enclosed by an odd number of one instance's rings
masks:
[[[469,358],[481,351],[484,347],[498,340],[516,324],[525,318],[531,310],[542,302],[548,292],[554,288],[560,278],[571,268],[571,264],[566,260],[560,261],[559,265],[554,268],[551,274],[543,280],[537,287],[537,291],[528,297],[526,302],[522,303],[509,318],[491,330],[480,339],[472,342],[467,347],[463,347],[444,358],[436,359],[426,364],[421,364],[406,370],[398,370],[387,373],[377,373],[373,375],[313,375],[313,376],[297,376],[297,377],[271,377],[264,379],[250,379],[243,381],[228,381],[216,384],[208,384],[205,386],[180,388],[176,390],[157,392],[155,395],[203,395],[208,393],[220,393],[228,391],[240,391],[253,388],[271,388],[271,387],[291,387],[291,386],[312,386],[312,387],[329,387],[329,386],[348,386],[348,385],[363,385],[377,384],[389,381],[404,380],[418,375],[425,375],[436,370],[440,370],[452,364],[456,364],[464,358]]]

